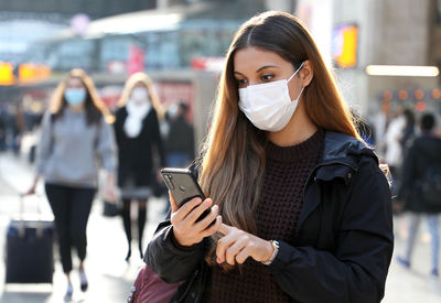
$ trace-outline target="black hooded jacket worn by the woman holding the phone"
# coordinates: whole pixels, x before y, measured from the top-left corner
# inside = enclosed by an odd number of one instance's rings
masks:
[[[182,250],[171,235],[170,221],[160,224],[144,261],[164,281],[186,280],[173,302],[198,302],[209,274],[203,261],[207,240]],[[325,133],[322,159],[304,188],[295,244],[280,241],[268,266],[290,302],[383,299],[394,249],[390,191],[377,158],[362,142]]]

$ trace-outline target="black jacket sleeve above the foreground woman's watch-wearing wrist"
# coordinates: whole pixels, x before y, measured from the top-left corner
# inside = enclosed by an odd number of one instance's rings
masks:
[[[384,296],[394,248],[390,192],[374,161],[366,162],[353,177],[335,251],[281,241],[268,267],[299,302],[372,303]]]

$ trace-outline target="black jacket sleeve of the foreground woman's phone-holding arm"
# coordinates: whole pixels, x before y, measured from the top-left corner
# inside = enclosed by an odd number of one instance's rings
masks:
[[[161,223],[150,240],[144,261],[168,283],[184,281],[196,270],[203,258],[202,242],[191,248],[179,248],[173,242],[170,220]]]

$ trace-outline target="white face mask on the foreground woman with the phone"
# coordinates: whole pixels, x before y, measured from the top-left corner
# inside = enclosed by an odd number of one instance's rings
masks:
[[[261,130],[279,131],[290,121],[295,111],[299,98],[291,100],[288,83],[303,67],[304,62],[289,79],[249,85],[239,88],[239,108],[251,123]]]

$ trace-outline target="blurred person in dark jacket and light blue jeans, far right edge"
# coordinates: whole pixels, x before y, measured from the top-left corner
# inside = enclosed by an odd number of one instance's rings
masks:
[[[398,262],[409,268],[417,238],[418,226],[426,217],[432,242],[431,274],[439,275],[439,214],[441,213],[441,139],[434,136],[435,119],[432,113],[421,117],[421,136],[415,139],[405,158],[402,183],[398,203],[409,212],[409,232],[405,253]]]

